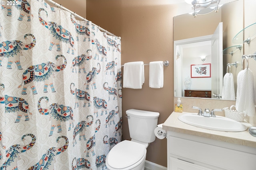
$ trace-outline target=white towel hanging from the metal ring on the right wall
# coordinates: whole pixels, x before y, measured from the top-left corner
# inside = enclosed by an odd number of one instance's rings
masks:
[[[244,69],[237,75],[236,110],[248,116],[256,115],[254,76],[250,69]]]

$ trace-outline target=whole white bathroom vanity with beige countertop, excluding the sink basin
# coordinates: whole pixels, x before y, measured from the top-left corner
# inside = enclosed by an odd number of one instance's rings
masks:
[[[168,170],[255,170],[256,137],[246,131],[224,132],[183,123],[172,114],[167,131]],[[243,123],[248,128],[249,123]]]

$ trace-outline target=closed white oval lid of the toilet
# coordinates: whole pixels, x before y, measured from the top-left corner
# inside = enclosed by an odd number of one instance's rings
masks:
[[[107,156],[108,165],[122,169],[138,162],[145,154],[146,147],[133,141],[122,141],[115,145]]]

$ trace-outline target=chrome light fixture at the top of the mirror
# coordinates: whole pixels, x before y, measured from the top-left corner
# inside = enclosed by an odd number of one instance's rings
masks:
[[[192,4],[192,9],[194,8],[194,12],[191,12],[189,14],[192,14],[194,17],[196,17],[197,15],[204,15],[204,14],[209,14],[210,12],[218,12],[218,10],[220,9],[220,7],[222,5],[219,5],[220,0],[185,0],[185,2],[187,4]],[[217,4],[216,6],[212,6],[210,8],[209,7],[211,4]],[[205,8],[202,10],[197,10],[196,8]]]

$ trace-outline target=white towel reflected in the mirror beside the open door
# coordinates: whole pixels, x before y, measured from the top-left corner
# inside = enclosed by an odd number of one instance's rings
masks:
[[[236,100],[234,78],[232,73],[226,73],[223,78],[222,99]]]

